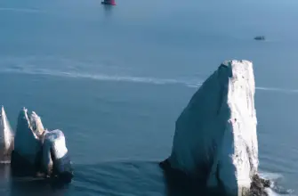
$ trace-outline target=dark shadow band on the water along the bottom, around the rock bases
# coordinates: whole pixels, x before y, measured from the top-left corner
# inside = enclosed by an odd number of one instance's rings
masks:
[[[202,181],[158,164],[157,161],[141,160],[75,165],[74,181],[63,187],[38,177],[12,177],[10,165],[0,164],[0,195],[223,196],[206,192]],[[6,191],[2,192],[4,189]]]

